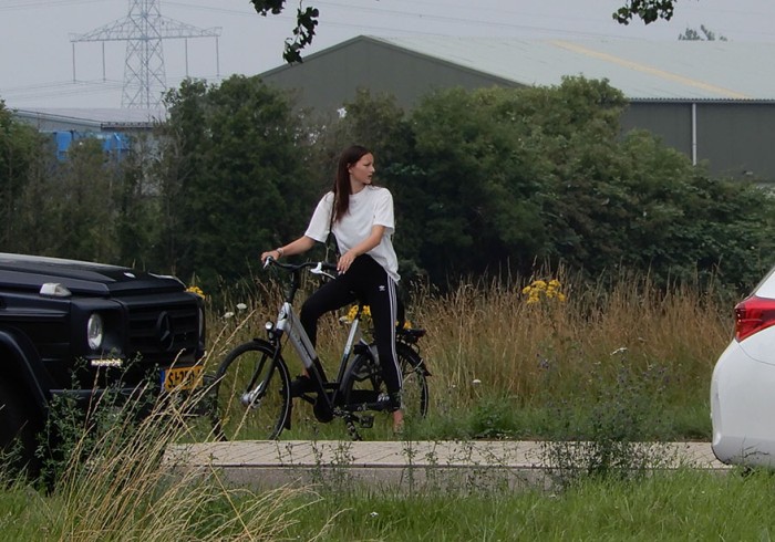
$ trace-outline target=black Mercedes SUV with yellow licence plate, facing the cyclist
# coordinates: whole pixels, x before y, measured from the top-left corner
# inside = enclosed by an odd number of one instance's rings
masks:
[[[32,459],[52,399],[200,383],[203,300],[174,277],[0,253],[0,447]],[[78,402],[76,402],[78,403]]]

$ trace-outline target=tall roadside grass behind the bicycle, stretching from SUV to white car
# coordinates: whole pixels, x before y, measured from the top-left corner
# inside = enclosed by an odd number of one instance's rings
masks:
[[[469,281],[446,293],[412,292],[409,317],[427,330],[421,347],[433,374],[424,436],[476,436],[484,417],[503,426],[487,429],[490,436],[546,437],[557,430],[548,418],[556,418],[558,408],[564,415],[591,409],[621,387],[623,377],[632,389],[621,393],[638,388],[659,398],[666,409],[662,417],[672,418],[662,428],[665,437],[707,435],[710,376],[731,336],[728,299],[712,285],[658,288],[643,274],[622,273],[593,284],[566,272],[537,278],[559,280],[564,301],[539,295],[528,302],[526,278]],[[217,345],[211,363],[239,341],[264,336],[264,322],[275,320],[281,284],[257,283],[255,292],[241,292],[245,299],[227,294],[217,301],[226,309],[210,311],[209,329],[219,337],[210,343]],[[310,282],[306,292],[312,288]],[[298,306],[306,292],[299,293]],[[235,311],[240,302],[247,309]],[[235,316],[224,320],[226,311]],[[326,317],[319,351],[329,374],[335,374],[343,341],[337,316]],[[285,354],[291,372],[300,373],[291,348]]]

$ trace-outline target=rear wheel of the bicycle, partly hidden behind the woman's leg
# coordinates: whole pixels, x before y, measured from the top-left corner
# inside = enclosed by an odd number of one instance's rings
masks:
[[[397,343],[395,351],[403,377],[401,403],[404,416],[424,418],[430,403],[425,364],[409,345]],[[345,388],[348,404],[373,402],[379,394],[388,392],[382,379],[382,367],[371,354],[359,354],[350,375]]]

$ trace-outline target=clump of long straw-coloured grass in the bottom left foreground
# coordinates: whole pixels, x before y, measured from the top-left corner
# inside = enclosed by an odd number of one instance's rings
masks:
[[[106,397],[106,396],[103,396]],[[304,489],[256,493],[227,487],[214,469],[190,469],[165,455],[173,442],[208,438],[199,425],[200,396],[174,392],[148,415],[137,397],[122,406],[102,398],[81,424],[59,424],[60,461],[48,466],[49,489],[35,493],[35,529],[7,540],[178,541],[277,540],[316,497]],[[66,405],[65,405],[66,409]],[[76,420],[79,416],[63,417]],[[65,432],[71,430],[71,435]],[[196,436],[192,436],[196,431]],[[29,490],[17,479],[6,493]],[[2,504],[0,504],[1,507]],[[33,529],[34,531],[34,529]],[[29,539],[28,539],[29,536]]]

